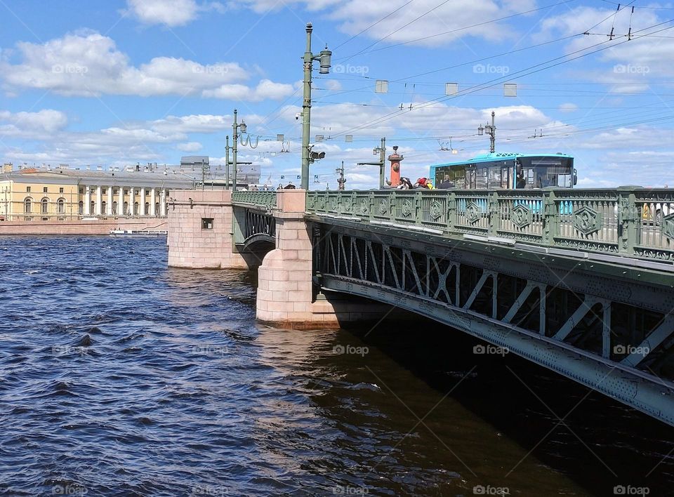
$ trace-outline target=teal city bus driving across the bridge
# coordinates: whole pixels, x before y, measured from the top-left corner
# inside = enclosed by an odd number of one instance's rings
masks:
[[[571,188],[576,184],[576,170],[574,158],[566,154],[491,152],[430,166],[430,178],[435,187],[449,181],[450,187],[460,190]]]

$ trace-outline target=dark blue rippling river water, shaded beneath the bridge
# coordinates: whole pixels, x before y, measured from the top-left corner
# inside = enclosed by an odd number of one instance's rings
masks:
[[[0,239],[0,495],[673,495],[673,430],[419,318],[256,324],[161,239]]]

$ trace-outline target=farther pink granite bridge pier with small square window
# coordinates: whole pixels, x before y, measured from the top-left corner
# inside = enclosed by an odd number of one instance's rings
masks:
[[[171,190],[169,266],[247,269],[232,243],[230,190]]]

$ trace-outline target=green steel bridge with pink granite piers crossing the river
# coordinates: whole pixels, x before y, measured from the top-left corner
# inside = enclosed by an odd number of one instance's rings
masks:
[[[173,194],[169,265],[259,266],[262,322],[365,319],[366,298],[674,425],[674,190]]]

